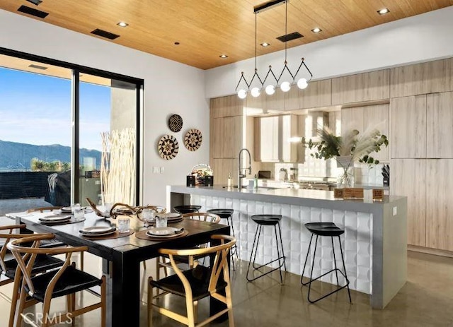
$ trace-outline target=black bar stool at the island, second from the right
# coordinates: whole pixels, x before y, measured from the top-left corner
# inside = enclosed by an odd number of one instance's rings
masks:
[[[282,215],[252,215],[251,219],[256,222],[256,232],[255,238],[253,239],[253,246],[252,252],[250,254],[250,261],[248,261],[248,268],[247,268],[247,280],[249,282],[256,280],[258,278],[263,277],[264,275],[268,275],[268,273],[272,273],[274,270],[280,270],[280,284],[283,285],[283,278],[282,278],[282,266],[285,266],[286,270],[286,262],[285,262],[285,252],[283,251],[283,243],[282,243],[282,229],[280,228],[280,220],[282,220]],[[269,261],[268,263],[264,263],[260,266],[256,266],[255,259],[256,259],[256,252],[258,251],[258,242],[260,242],[260,235],[263,226],[273,226],[275,230],[275,243],[277,244],[277,258]],[[277,226],[278,226],[278,234],[277,234]],[[279,246],[279,236],[280,236],[280,246]],[[266,244],[267,245],[267,244]],[[280,247],[281,247],[281,255],[280,255]],[[254,251],[254,253],[253,253]],[[253,258],[253,261],[252,261]],[[278,267],[269,270],[267,273],[261,273],[255,278],[248,278],[248,271],[252,266],[253,270],[259,270],[260,268],[267,266],[270,263],[278,261]]]

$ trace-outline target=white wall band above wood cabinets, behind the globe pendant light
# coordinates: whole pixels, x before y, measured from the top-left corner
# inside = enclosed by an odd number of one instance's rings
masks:
[[[325,79],[452,57],[452,30],[453,6],[449,6],[288,49],[288,66],[295,72],[304,57],[314,79]],[[272,65],[280,73],[284,59],[284,52],[258,57],[258,72],[264,78]],[[206,71],[206,97],[234,94],[241,71],[250,81],[253,69],[254,59],[248,59]]]

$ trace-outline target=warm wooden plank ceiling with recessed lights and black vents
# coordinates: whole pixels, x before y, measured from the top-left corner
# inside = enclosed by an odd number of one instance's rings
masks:
[[[86,35],[92,35],[91,31],[99,28],[120,35],[111,42],[200,69],[211,69],[255,56],[253,7],[263,2],[42,0],[35,6],[26,0],[1,0],[0,8],[31,18],[35,17],[19,13],[17,9],[22,5],[35,8],[49,13],[46,18],[36,18],[46,23]],[[453,0],[290,0],[287,32],[299,32],[304,37],[287,42],[287,47],[452,5]],[[390,12],[381,16],[377,11],[382,8],[389,8]],[[285,35],[285,5],[259,13],[257,20],[258,55],[285,49],[284,43],[275,40],[275,37]],[[129,26],[121,28],[117,25],[120,21]],[[311,32],[316,27],[322,31]],[[263,42],[270,43],[270,47],[260,47]],[[228,58],[222,59],[220,54],[226,54]]]

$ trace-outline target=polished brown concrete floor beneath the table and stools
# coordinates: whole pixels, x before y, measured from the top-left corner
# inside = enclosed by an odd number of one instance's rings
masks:
[[[98,275],[101,261],[86,254],[86,270]],[[239,262],[231,273],[233,283],[234,323],[237,327],[291,326],[453,326],[453,258],[408,252],[408,282],[384,310],[369,307],[367,295],[351,291],[349,304],[345,290],[316,304],[306,300],[306,287],[299,284],[299,276],[287,273],[285,285],[280,285],[277,273],[253,283],[246,282],[247,262]],[[142,270],[142,283],[154,274],[154,261]],[[328,290],[326,284],[315,285],[315,290]],[[10,292],[10,285],[0,288]],[[142,292],[141,326],[147,326],[146,287]],[[316,294],[315,294],[316,295]],[[92,303],[95,298],[85,293],[79,302]],[[172,307],[184,308],[184,302],[173,297],[167,301]],[[53,310],[64,308],[64,299],[57,299]],[[6,326],[9,304],[0,297],[0,326]],[[38,306],[38,311],[40,307]],[[184,309],[181,310],[181,313]],[[207,313],[207,302],[200,302],[200,317]],[[183,326],[154,313],[154,326]],[[25,325],[24,325],[25,326]],[[68,325],[62,325],[68,326]],[[75,326],[100,326],[100,311],[96,310],[76,319]],[[209,326],[228,326],[228,322]]]

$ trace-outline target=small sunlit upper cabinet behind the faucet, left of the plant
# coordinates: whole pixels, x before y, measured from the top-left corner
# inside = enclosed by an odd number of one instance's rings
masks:
[[[254,160],[260,162],[297,162],[297,116],[285,114],[255,118]]]

